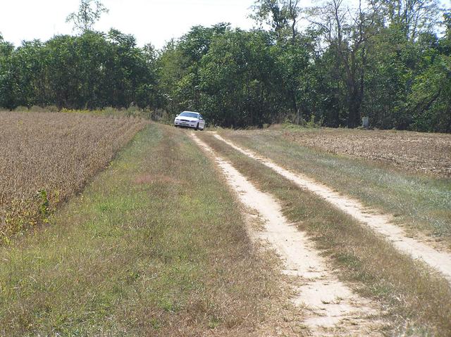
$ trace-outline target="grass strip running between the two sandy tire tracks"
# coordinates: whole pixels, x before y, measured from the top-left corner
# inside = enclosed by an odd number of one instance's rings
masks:
[[[399,253],[382,236],[273,170],[235,151],[211,134],[202,134],[223,158],[276,196],[290,221],[316,242],[352,288],[379,300],[391,322],[388,335],[449,336],[451,288],[424,263]]]

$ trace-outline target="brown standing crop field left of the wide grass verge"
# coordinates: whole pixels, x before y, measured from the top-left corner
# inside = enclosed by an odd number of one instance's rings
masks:
[[[78,113],[0,113],[0,242],[46,221],[147,124]]]

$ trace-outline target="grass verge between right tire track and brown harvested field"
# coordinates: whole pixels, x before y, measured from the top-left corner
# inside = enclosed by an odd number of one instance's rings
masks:
[[[397,170],[383,163],[326,153],[277,132],[230,132],[226,138],[288,170],[302,172],[366,206],[394,215],[411,235],[419,231],[451,248],[451,179]]]

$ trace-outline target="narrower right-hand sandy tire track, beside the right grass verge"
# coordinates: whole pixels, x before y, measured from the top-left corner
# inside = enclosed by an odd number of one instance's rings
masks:
[[[328,186],[320,184],[304,174],[293,173],[285,170],[283,167],[273,163],[268,158],[262,158],[252,151],[236,146],[232,141],[223,139],[223,137],[218,134],[214,134],[214,136],[216,139],[219,139],[232,148],[235,148],[235,150],[240,153],[257,160],[259,163],[276,171],[278,174],[282,175],[291,182],[294,182],[302,189],[307,189],[315,193],[317,196],[321,196],[321,198],[335,205],[338,209],[352,215],[352,217],[359,220],[359,222],[366,224],[374,231],[385,236],[385,238],[391,241],[393,246],[395,246],[398,250],[409,254],[414,259],[420,259],[426,262],[426,264],[442,273],[447,281],[451,283],[451,254],[440,252],[425,243],[409,238],[402,228],[393,224],[392,218],[389,215],[378,214],[376,210],[366,208],[362,205],[362,203],[359,203],[359,201],[342,196],[340,193],[333,191]]]

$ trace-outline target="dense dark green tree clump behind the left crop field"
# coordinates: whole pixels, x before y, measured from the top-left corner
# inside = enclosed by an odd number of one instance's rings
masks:
[[[124,108],[151,106],[156,96],[152,46],[117,30],[60,35],[14,49],[0,42],[0,106]]]

